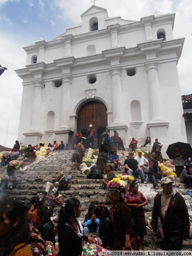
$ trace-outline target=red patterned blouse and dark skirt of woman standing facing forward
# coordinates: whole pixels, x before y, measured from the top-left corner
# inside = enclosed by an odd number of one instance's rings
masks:
[[[128,204],[142,204],[147,199],[141,192],[137,192],[137,195],[131,194],[131,192],[127,192],[125,194],[125,199],[127,199]],[[134,220],[134,233],[135,235],[144,236],[147,234],[146,224],[145,224],[145,215],[143,207],[136,208],[131,207],[132,210],[132,218]]]

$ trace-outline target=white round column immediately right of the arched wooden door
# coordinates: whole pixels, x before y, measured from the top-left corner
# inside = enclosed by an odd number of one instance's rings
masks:
[[[121,109],[121,71],[122,67],[118,66],[116,68],[109,68],[111,71],[112,79],[112,110],[113,110],[113,123],[112,124],[121,124],[122,123],[122,109]]]

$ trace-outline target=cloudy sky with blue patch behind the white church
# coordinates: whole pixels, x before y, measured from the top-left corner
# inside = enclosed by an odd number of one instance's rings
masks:
[[[80,15],[92,4],[90,0],[0,0],[0,64],[8,67],[0,76],[0,145],[12,147],[17,140],[23,88],[14,70],[25,67],[23,47],[40,37],[49,41],[81,23]],[[140,20],[156,10],[176,13],[174,38],[185,37],[177,65],[181,95],[192,93],[191,0],[96,0],[95,4],[107,9],[109,17],[126,20]]]

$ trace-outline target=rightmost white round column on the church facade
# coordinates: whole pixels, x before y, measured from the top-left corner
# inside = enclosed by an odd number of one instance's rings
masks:
[[[161,96],[159,89],[159,81],[157,74],[157,66],[159,61],[145,61],[145,67],[148,74],[148,86],[149,86],[149,102],[151,111],[150,122],[163,121],[161,112]]]

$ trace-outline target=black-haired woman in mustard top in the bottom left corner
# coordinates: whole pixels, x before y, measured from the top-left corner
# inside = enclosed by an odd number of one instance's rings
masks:
[[[29,227],[20,202],[0,202],[0,256],[32,256]]]

